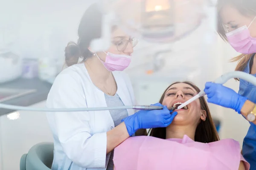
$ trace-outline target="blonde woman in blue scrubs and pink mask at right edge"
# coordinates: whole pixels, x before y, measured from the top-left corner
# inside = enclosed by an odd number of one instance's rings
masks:
[[[233,61],[239,61],[236,71],[244,71],[256,77],[256,1],[219,0],[218,33],[238,52]],[[204,89],[208,102],[241,113],[253,121],[256,115],[256,86],[240,80],[239,94],[223,85],[207,82]],[[250,102],[250,101],[251,102]],[[249,114],[248,114],[249,113]],[[250,170],[256,170],[256,121],[244,138],[242,154],[250,163]]]

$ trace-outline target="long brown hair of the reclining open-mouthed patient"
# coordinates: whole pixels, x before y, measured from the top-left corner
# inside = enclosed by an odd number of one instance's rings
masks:
[[[200,92],[200,89],[194,85],[192,82],[175,82],[172,83],[172,85],[178,84],[178,83],[185,83],[187,85],[192,86],[198,93]],[[160,103],[163,103],[164,96],[166,94],[166,91],[172,86],[170,85],[166,90],[164,91]],[[209,111],[208,105],[204,97],[199,98],[201,110],[206,111],[206,120],[201,121],[198,124],[198,127],[195,130],[195,142],[203,142],[203,143],[209,143],[209,142],[215,142],[219,140],[219,136],[217,133],[217,130],[215,128],[215,125],[212,120],[211,113]],[[160,127],[160,128],[153,128],[151,130],[150,136],[154,136],[161,139],[166,139],[166,128]]]

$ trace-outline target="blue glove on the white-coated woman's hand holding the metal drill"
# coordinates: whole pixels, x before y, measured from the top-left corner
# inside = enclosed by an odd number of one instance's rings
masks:
[[[167,127],[177,115],[177,112],[171,114],[171,111],[160,103],[156,103],[154,106],[162,106],[163,110],[138,111],[137,113],[122,119],[122,122],[125,122],[130,136],[139,129]]]

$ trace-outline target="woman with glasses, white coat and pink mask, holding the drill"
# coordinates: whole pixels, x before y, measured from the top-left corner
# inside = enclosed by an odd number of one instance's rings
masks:
[[[128,9],[130,10],[130,9]],[[102,13],[96,4],[81,18],[78,43],[65,49],[67,68],[55,79],[48,108],[95,108],[134,105],[131,82],[122,72],[131,62],[135,38],[112,28],[108,51],[90,51],[100,37]],[[82,61],[78,63],[79,58]],[[162,106],[160,104],[155,104]],[[113,149],[137,130],[167,127],[177,113],[114,110],[47,113],[54,137],[52,170],[113,170]]]

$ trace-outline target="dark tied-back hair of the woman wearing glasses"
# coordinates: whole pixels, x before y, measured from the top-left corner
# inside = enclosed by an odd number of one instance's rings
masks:
[[[84,62],[88,57],[92,57],[93,53],[88,50],[90,42],[93,39],[101,37],[102,13],[96,3],[92,4],[84,12],[81,18],[77,43],[69,42],[65,48],[65,61],[69,67],[77,64],[79,58]]]

